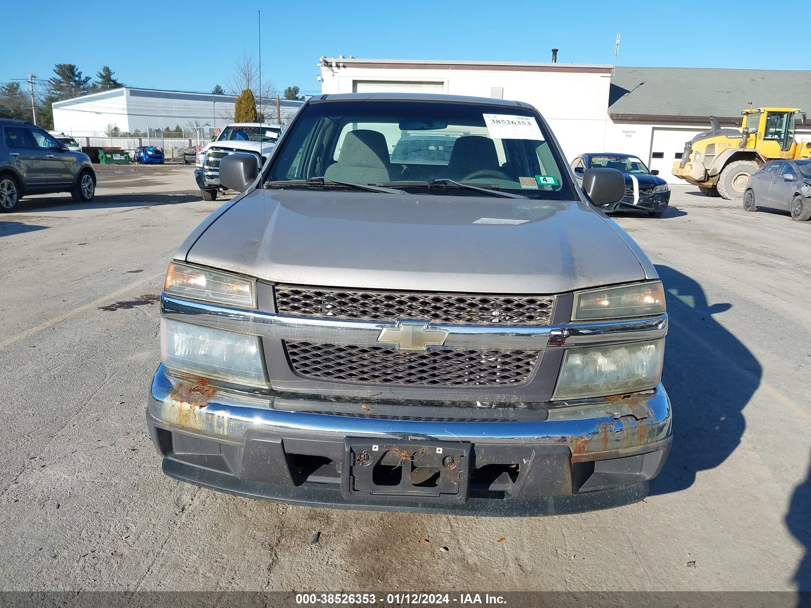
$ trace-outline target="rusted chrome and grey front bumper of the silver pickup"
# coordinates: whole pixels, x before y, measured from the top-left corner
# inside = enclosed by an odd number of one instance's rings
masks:
[[[671,405],[661,385],[632,396],[550,407],[543,419],[373,417],[373,411],[361,414],[371,408],[360,403],[354,415],[334,409],[327,400],[234,392],[206,379],[176,377],[160,366],[147,421],[172,477],[238,495],[354,509],[459,512],[430,505],[345,503],[340,484],[346,438],[471,443],[474,467],[481,469],[471,469],[470,504],[460,508],[480,515],[495,508],[470,507],[484,496],[517,506],[534,497],[593,494],[601,495],[599,506],[575,510],[616,506],[604,492],[638,486],[659,474],[672,440]],[[480,473],[491,471],[488,465],[514,465],[519,472],[490,478]],[[644,498],[638,489],[621,494],[632,497],[629,502]],[[548,507],[537,503],[515,513],[498,507],[493,514],[550,514]]]

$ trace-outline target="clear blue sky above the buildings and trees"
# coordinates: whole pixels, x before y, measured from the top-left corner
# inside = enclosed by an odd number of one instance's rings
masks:
[[[727,0],[700,6],[605,0],[7,2],[6,36],[18,19],[26,33],[12,44],[6,38],[0,83],[29,71],[48,79],[55,63],[75,63],[85,75],[106,64],[131,86],[210,91],[225,85],[243,50],[257,53],[257,10],[263,79],[309,94],[320,92],[315,63],[322,54],[546,62],[556,47],[560,62],[612,63],[618,32],[621,66],[811,69],[807,52],[773,53],[800,49],[803,28],[794,27],[792,15],[807,15],[803,3],[773,5],[779,6],[776,31],[792,36],[785,41],[753,29],[773,18],[768,6]],[[737,19],[752,15],[751,27]]]

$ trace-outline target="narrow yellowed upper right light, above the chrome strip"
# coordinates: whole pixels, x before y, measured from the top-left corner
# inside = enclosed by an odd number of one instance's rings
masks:
[[[572,319],[624,319],[661,315],[665,311],[662,281],[590,289],[574,294]]]

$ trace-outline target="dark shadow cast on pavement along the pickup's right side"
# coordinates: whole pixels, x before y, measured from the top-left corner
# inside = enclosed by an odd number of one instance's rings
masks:
[[[667,266],[656,266],[664,284],[670,325],[663,384],[674,405],[673,447],[650,494],[693,485],[699,471],[714,469],[740,443],[741,410],[760,384],[762,367],[713,319],[730,304],[709,305],[701,285]]]

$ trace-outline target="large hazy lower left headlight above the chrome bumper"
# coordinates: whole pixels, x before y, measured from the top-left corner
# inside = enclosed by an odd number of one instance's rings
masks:
[[[171,370],[267,386],[257,336],[161,319],[161,361]]]

